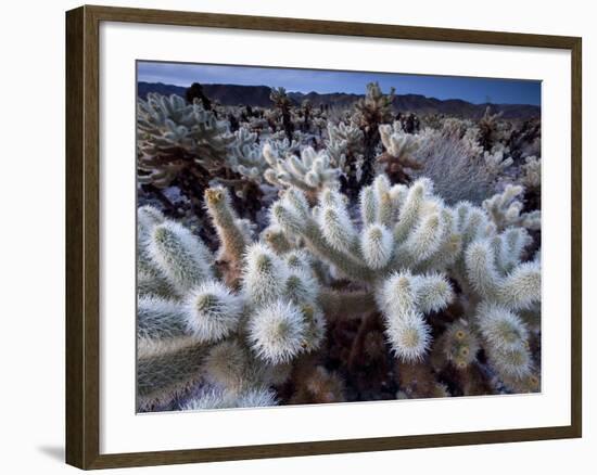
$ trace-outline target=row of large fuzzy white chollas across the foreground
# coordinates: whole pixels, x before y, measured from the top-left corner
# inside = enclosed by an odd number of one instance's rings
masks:
[[[533,389],[529,319],[538,318],[541,265],[538,254],[523,261],[530,238],[516,197],[504,221],[492,213],[504,207],[498,197],[448,206],[428,179],[391,185],[380,175],[352,216],[335,188],[322,187],[314,202],[291,185],[254,239],[216,187],[205,192],[216,254],[156,209],[139,208],[139,409],[189,391],[191,409],[274,405],[272,387],[321,346],[327,320],[367,312],[383,314],[398,360],[423,361],[433,346],[428,316],[455,301],[455,285],[463,311],[436,342],[443,358],[463,369],[483,348],[504,384]],[[332,285],[340,280],[351,288]]]

